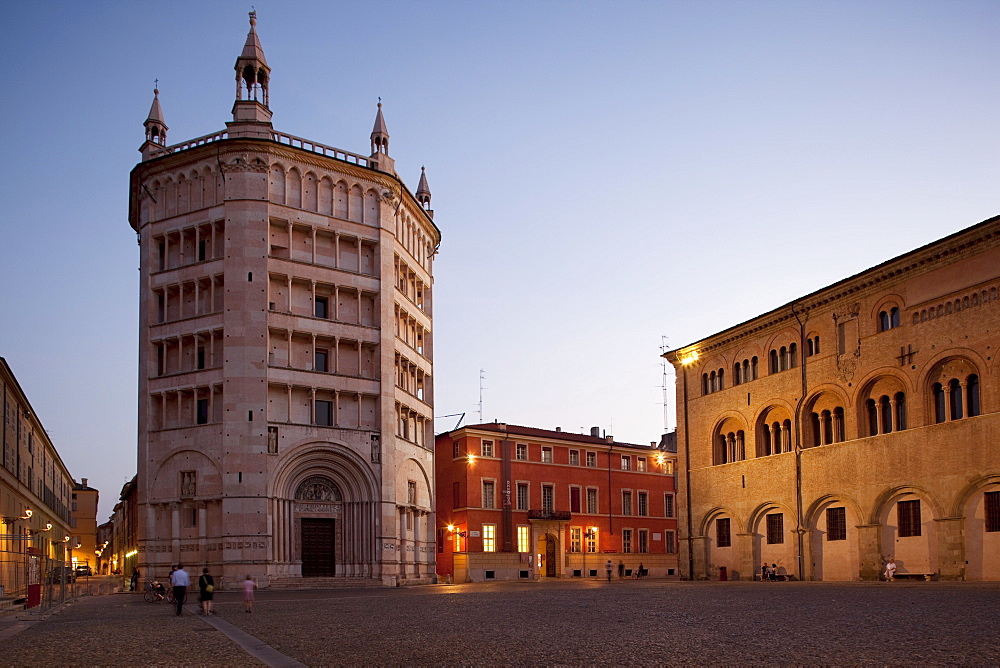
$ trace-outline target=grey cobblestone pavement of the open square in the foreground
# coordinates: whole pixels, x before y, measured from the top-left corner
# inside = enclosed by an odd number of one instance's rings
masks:
[[[261,591],[252,614],[220,592],[215,609],[317,666],[1000,664],[1000,583],[556,580]],[[2,644],[13,665],[252,663],[198,616],[122,594]]]

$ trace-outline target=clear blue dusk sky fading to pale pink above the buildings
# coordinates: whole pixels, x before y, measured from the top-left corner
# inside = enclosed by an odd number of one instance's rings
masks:
[[[253,4],[275,129],[367,154],[381,97],[427,168],[438,416],[479,421],[483,369],[485,421],[658,440],[664,341],[1000,213],[995,0]],[[158,79],[169,144],[224,129],[250,3],[0,8],[0,356],[104,521],[142,122]]]

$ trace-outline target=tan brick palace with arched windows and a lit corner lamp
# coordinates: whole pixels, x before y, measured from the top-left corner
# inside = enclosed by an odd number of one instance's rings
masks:
[[[1000,580],[1000,217],[664,356],[681,572]]]

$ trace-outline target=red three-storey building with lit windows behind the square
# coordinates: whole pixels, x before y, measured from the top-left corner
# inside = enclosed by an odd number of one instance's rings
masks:
[[[671,441],[672,442],[672,441]],[[672,451],[671,451],[672,450]],[[677,575],[676,447],[502,423],[435,441],[437,573],[454,582]]]

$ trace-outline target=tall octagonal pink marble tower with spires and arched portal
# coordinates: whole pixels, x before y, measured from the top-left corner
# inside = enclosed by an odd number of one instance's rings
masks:
[[[274,130],[255,25],[226,129],[169,145],[154,91],[131,173],[138,565],[430,581],[427,180],[397,176],[381,103],[368,156]]]

